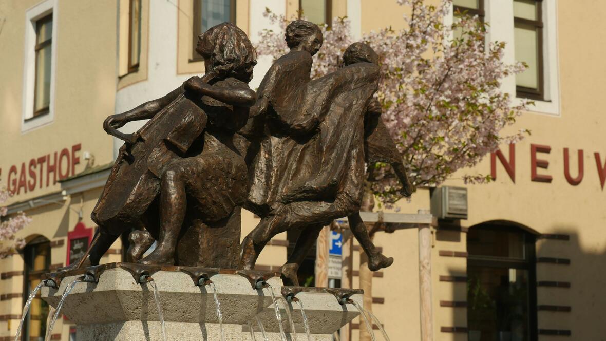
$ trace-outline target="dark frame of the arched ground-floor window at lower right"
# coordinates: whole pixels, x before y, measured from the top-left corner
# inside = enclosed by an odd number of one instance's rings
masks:
[[[530,340],[538,340],[538,301],[536,280],[536,236],[513,224],[488,222],[476,225],[476,229],[491,231],[518,231],[524,234],[525,259],[513,257],[481,256],[468,252],[467,268],[499,268],[528,271],[528,329]],[[470,228],[470,229],[471,229]],[[469,236],[469,234],[467,234]]]

